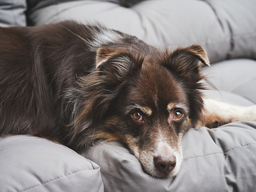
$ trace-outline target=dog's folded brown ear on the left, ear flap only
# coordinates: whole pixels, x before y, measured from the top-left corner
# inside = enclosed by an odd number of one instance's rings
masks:
[[[142,62],[139,56],[124,49],[101,47],[97,50],[96,68],[100,70],[100,75],[116,83],[139,70]]]

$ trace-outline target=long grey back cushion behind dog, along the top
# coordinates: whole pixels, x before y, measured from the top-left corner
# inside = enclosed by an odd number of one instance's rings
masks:
[[[255,18],[254,0],[148,0],[130,8],[109,1],[48,0],[29,12],[36,25],[65,19],[99,22],[160,47],[201,44],[212,63],[256,59]]]

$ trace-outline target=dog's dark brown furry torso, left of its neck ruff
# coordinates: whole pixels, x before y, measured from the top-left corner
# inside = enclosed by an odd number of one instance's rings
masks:
[[[89,47],[70,33],[86,30],[77,27],[67,22],[0,28],[1,134],[49,132],[56,137],[60,132],[54,130],[70,123],[67,116],[60,117],[63,90],[73,86],[74,74],[90,70],[95,58],[95,52],[84,51]]]

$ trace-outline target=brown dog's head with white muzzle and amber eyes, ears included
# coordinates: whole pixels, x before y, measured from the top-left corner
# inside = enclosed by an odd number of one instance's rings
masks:
[[[86,97],[75,122],[77,145],[83,138],[121,141],[148,174],[176,175],[182,136],[202,115],[203,64],[209,61],[200,45],[147,54],[100,48],[95,71],[81,81]]]

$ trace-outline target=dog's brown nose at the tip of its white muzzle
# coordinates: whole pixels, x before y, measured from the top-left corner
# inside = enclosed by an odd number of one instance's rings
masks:
[[[176,157],[164,157],[164,156],[157,156],[154,157],[154,164],[156,169],[162,173],[170,173],[176,166]]]

